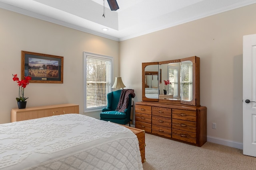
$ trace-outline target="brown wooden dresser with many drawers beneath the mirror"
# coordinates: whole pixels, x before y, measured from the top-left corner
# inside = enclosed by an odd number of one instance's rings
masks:
[[[206,107],[136,102],[135,127],[146,133],[201,147],[206,143]]]

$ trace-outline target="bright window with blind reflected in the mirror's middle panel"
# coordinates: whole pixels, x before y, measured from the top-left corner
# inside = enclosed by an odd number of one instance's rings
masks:
[[[168,66],[168,80],[170,80],[169,84],[169,92],[168,94],[173,95],[173,97],[178,96],[178,68],[173,66]]]

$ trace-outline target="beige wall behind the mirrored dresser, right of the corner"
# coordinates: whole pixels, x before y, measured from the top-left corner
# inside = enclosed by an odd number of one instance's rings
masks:
[[[242,40],[256,33],[255,21],[256,4],[122,41],[120,76],[141,101],[141,63],[200,57],[207,135],[242,143]]]

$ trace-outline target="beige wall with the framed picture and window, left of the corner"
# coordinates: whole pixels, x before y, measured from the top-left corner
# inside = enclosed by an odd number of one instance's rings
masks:
[[[17,107],[12,74],[20,78],[22,50],[64,57],[64,83],[30,83],[25,89],[27,107],[74,103],[83,113],[83,51],[114,57],[118,76],[118,48],[117,41],[0,9],[0,123],[10,122],[10,111]]]

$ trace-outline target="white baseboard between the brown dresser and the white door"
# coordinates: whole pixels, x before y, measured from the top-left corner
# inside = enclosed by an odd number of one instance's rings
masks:
[[[232,147],[232,148],[243,149],[243,143],[234,142],[234,141],[230,141],[227,139],[207,136],[207,141],[212,142],[212,143],[217,143],[220,145],[225,145],[225,146]]]

